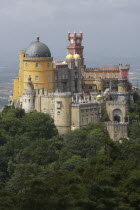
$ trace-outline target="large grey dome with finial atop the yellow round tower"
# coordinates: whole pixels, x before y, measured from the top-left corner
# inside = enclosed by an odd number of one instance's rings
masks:
[[[51,57],[51,52],[49,48],[42,42],[37,41],[32,42],[25,51],[25,57]]]

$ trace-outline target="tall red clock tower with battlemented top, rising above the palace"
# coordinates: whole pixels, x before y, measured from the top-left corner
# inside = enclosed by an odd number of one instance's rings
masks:
[[[77,35],[75,32],[74,34],[68,33],[68,40],[69,46],[67,47],[68,54],[79,54],[82,59],[82,64],[84,65],[84,58],[83,58],[83,49],[82,40],[83,40],[83,33]]]

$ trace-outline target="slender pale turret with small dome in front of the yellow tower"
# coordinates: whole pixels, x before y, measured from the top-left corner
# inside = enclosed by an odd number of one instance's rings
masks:
[[[30,113],[34,111],[34,98],[35,98],[35,90],[34,85],[31,81],[31,77],[28,78],[27,89],[23,91],[22,97],[22,108],[26,113]]]

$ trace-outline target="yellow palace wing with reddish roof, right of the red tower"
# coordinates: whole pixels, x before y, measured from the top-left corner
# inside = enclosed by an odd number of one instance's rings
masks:
[[[85,92],[104,92],[109,88],[112,92],[127,92],[122,82],[119,80],[128,80],[128,71],[130,65],[123,66],[122,64],[114,67],[99,67],[99,68],[84,68],[82,72],[83,76],[83,90]],[[123,88],[123,90],[122,90]]]

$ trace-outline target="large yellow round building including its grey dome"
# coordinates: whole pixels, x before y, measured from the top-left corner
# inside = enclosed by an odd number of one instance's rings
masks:
[[[20,51],[19,76],[14,79],[13,100],[23,96],[27,89],[28,78],[31,77],[34,89],[44,88],[54,91],[53,58],[49,48],[37,40],[32,42],[25,51]]]

